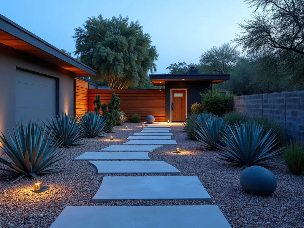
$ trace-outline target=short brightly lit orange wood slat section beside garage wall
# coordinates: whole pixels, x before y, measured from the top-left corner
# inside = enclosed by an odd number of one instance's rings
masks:
[[[86,81],[74,80],[74,115],[88,111],[88,87]]]

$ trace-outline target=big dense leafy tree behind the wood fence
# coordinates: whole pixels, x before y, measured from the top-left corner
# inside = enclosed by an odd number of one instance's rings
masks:
[[[106,79],[112,89],[143,85],[147,72],[156,71],[158,54],[149,33],[143,33],[138,21],[129,23],[128,16],[111,19],[93,16],[83,28],[75,29],[73,37],[75,54],[97,71],[93,80]]]

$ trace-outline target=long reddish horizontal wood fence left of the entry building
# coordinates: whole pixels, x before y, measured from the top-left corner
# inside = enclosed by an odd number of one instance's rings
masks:
[[[141,121],[144,121],[148,115],[153,115],[156,122],[165,121],[164,89],[89,89],[87,110],[94,111],[93,100],[97,94],[100,95],[102,103],[108,104],[112,93],[116,93],[120,98],[120,111],[129,116],[129,121],[133,113],[140,114]],[[80,110],[78,106],[76,109]]]

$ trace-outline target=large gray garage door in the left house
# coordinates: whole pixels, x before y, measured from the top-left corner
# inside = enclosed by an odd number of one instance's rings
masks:
[[[16,70],[16,122],[45,122],[55,113],[56,79]]]

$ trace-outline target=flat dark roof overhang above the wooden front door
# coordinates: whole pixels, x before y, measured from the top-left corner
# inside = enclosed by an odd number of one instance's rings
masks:
[[[213,84],[230,79],[230,74],[149,74],[153,85],[166,85],[166,81],[212,81]]]

